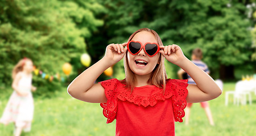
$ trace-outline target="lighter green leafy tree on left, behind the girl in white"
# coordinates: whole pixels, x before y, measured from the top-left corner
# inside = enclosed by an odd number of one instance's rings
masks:
[[[102,10],[94,0],[1,1],[0,71],[5,71],[0,74],[1,86],[10,86],[11,70],[23,57],[31,58],[44,73],[62,73],[63,63],[80,58],[85,38],[103,24],[95,17]],[[82,67],[74,66],[74,73]],[[34,78],[34,82],[40,84],[38,92],[60,87],[56,80]]]

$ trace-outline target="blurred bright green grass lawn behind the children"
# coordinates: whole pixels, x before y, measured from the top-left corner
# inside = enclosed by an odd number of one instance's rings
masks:
[[[225,91],[234,90],[234,83],[225,83],[223,94],[209,101],[215,126],[210,126],[200,104],[193,104],[190,124],[176,122],[176,135],[255,135],[256,96],[252,94],[252,105],[225,106]],[[10,91],[11,92],[11,91]],[[10,93],[9,93],[10,94]],[[115,121],[106,124],[100,104],[84,103],[67,94],[66,88],[52,99],[35,98],[32,130],[26,136],[59,135],[114,135]],[[0,100],[0,114],[7,99]],[[12,135],[13,124],[0,124],[0,135]]]

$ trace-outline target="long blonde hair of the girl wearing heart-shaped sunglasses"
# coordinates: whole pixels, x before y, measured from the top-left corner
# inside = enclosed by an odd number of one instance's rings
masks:
[[[136,35],[136,33],[142,32],[142,31],[151,32],[153,35],[155,35],[155,38],[158,41],[159,46],[163,45],[163,42],[160,39],[158,33],[156,33],[154,30],[148,29],[148,28],[138,29],[136,32],[134,32],[129,37],[128,41],[133,39],[133,37],[134,37],[134,35]],[[163,88],[163,90],[165,90],[167,74],[166,74],[166,68],[164,67],[164,56],[162,54],[160,54],[158,62],[159,62],[159,64],[156,64],[155,69],[152,71],[150,79],[148,79],[148,82],[152,83],[153,85],[155,85],[159,88]],[[122,83],[126,84],[126,88],[130,88],[130,90],[133,91],[134,84],[137,82],[137,80],[135,79],[133,71],[131,71],[131,69],[129,67],[127,52],[126,52],[125,56],[123,57],[123,65],[125,67],[125,79],[122,80]]]

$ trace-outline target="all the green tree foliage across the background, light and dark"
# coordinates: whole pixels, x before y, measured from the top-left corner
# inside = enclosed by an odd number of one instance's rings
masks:
[[[158,32],[164,45],[180,45],[188,58],[193,48],[203,49],[203,61],[215,77],[221,66],[252,71],[256,55],[248,28],[254,20],[247,18],[251,11],[246,6],[253,2],[0,1],[0,71],[5,71],[0,73],[0,88],[10,86],[11,70],[23,57],[31,58],[38,69],[49,75],[62,74],[61,66],[70,62],[70,82],[84,70],[82,53],[88,52],[95,63],[108,44],[126,42],[131,33],[143,27]],[[254,30],[252,33],[255,39]],[[176,78],[179,67],[167,62],[166,69],[170,78]],[[38,92],[61,86],[57,80],[50,83],[39,77],[34,78],[34,83],[40,85]],[[114,66],[114,77],[124,77],[122,61]],[[98,79],[108,78],[112,77],[102,74]]]

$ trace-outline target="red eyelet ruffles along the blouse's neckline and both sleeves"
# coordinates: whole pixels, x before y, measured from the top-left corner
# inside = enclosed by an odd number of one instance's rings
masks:
[[[135,94],[131,94],[130,91],[126,90],[117,90],[117,85],[121,83],[117,79],[110,79],[100,82],[101,85],[105,88],[105,95],[108,98],[107,103],[101,103],[101,107],[104,108],[103,114],[107,120],[107,124],[114,121],[117,113],[117,101],[129,101],[138,106],[143,105],[147,107],[150,105],[153,107],[158,101],[164,101],[171,97],[172,99],[172,108],[174,111],[175,121],[183,122],[182,117],[185,116],[184,109],[187,105],[185,98],[187,97],[187,80],[177,80],[177,79],[168,79],[166,83],[166,91],[160,91],[159,93],[150,96],[143,97]],[[123,85],[123,84],[122,84]]]

